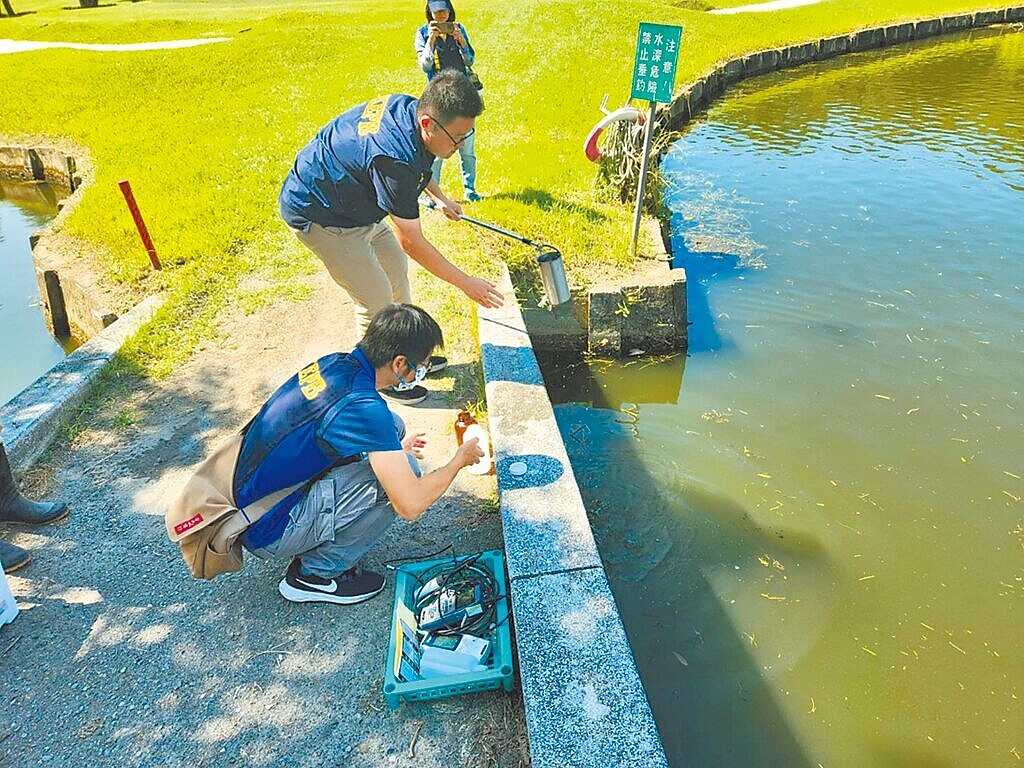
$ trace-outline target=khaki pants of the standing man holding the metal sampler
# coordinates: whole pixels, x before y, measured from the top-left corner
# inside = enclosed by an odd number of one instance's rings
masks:
[[[352,297],[356,338],[362,338],[379,309],[392,302],[412,301],[409,257],[383,221],[347,228],[310,224],[309,231],[295,230],[295,237],[319,257],[334,282]]]

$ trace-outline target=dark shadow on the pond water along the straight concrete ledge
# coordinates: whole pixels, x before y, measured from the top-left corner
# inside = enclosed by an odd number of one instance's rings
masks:
[[[682,468],[669,483],[650,473],[634,439],[638,403],[674,403],[684,362],[678,355],[641,374],[548,358],[544,372],[564,403],[556,418],[670,763],[813,768],[756,658],[759,639],[736,626],[716,574],[731,578],[733,563],[766,550],[799,553],[812,569],[824,555],[814,540],[758,525]]]

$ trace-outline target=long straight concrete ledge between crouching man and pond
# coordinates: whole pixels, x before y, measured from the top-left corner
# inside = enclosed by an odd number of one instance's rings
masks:
[[[478,328],[532,766],[667,768],[507,269],[500,288]]]

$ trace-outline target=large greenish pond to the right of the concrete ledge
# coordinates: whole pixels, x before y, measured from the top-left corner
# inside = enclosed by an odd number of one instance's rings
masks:
[[[673,765],[1024,764],[1021,93],[1011,30],[748,82],[663,166],[685,372],[546,373]]]

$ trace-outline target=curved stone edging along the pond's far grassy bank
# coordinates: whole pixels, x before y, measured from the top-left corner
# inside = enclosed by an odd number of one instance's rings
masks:
[[[658,110],[663,130],[679,130],[707,110],[715,99],[740,80],[786,70],[802,63],[824,61],[844,53],[884,48],[911,40],[924,40],[953,32],[965,32],[997,24],[1024,23],[1024,5],[937,18],[890,24],[849,35],[821,38],[783,48],[748,53],[719,66],[705,77],[676,92],[672,103]]]

